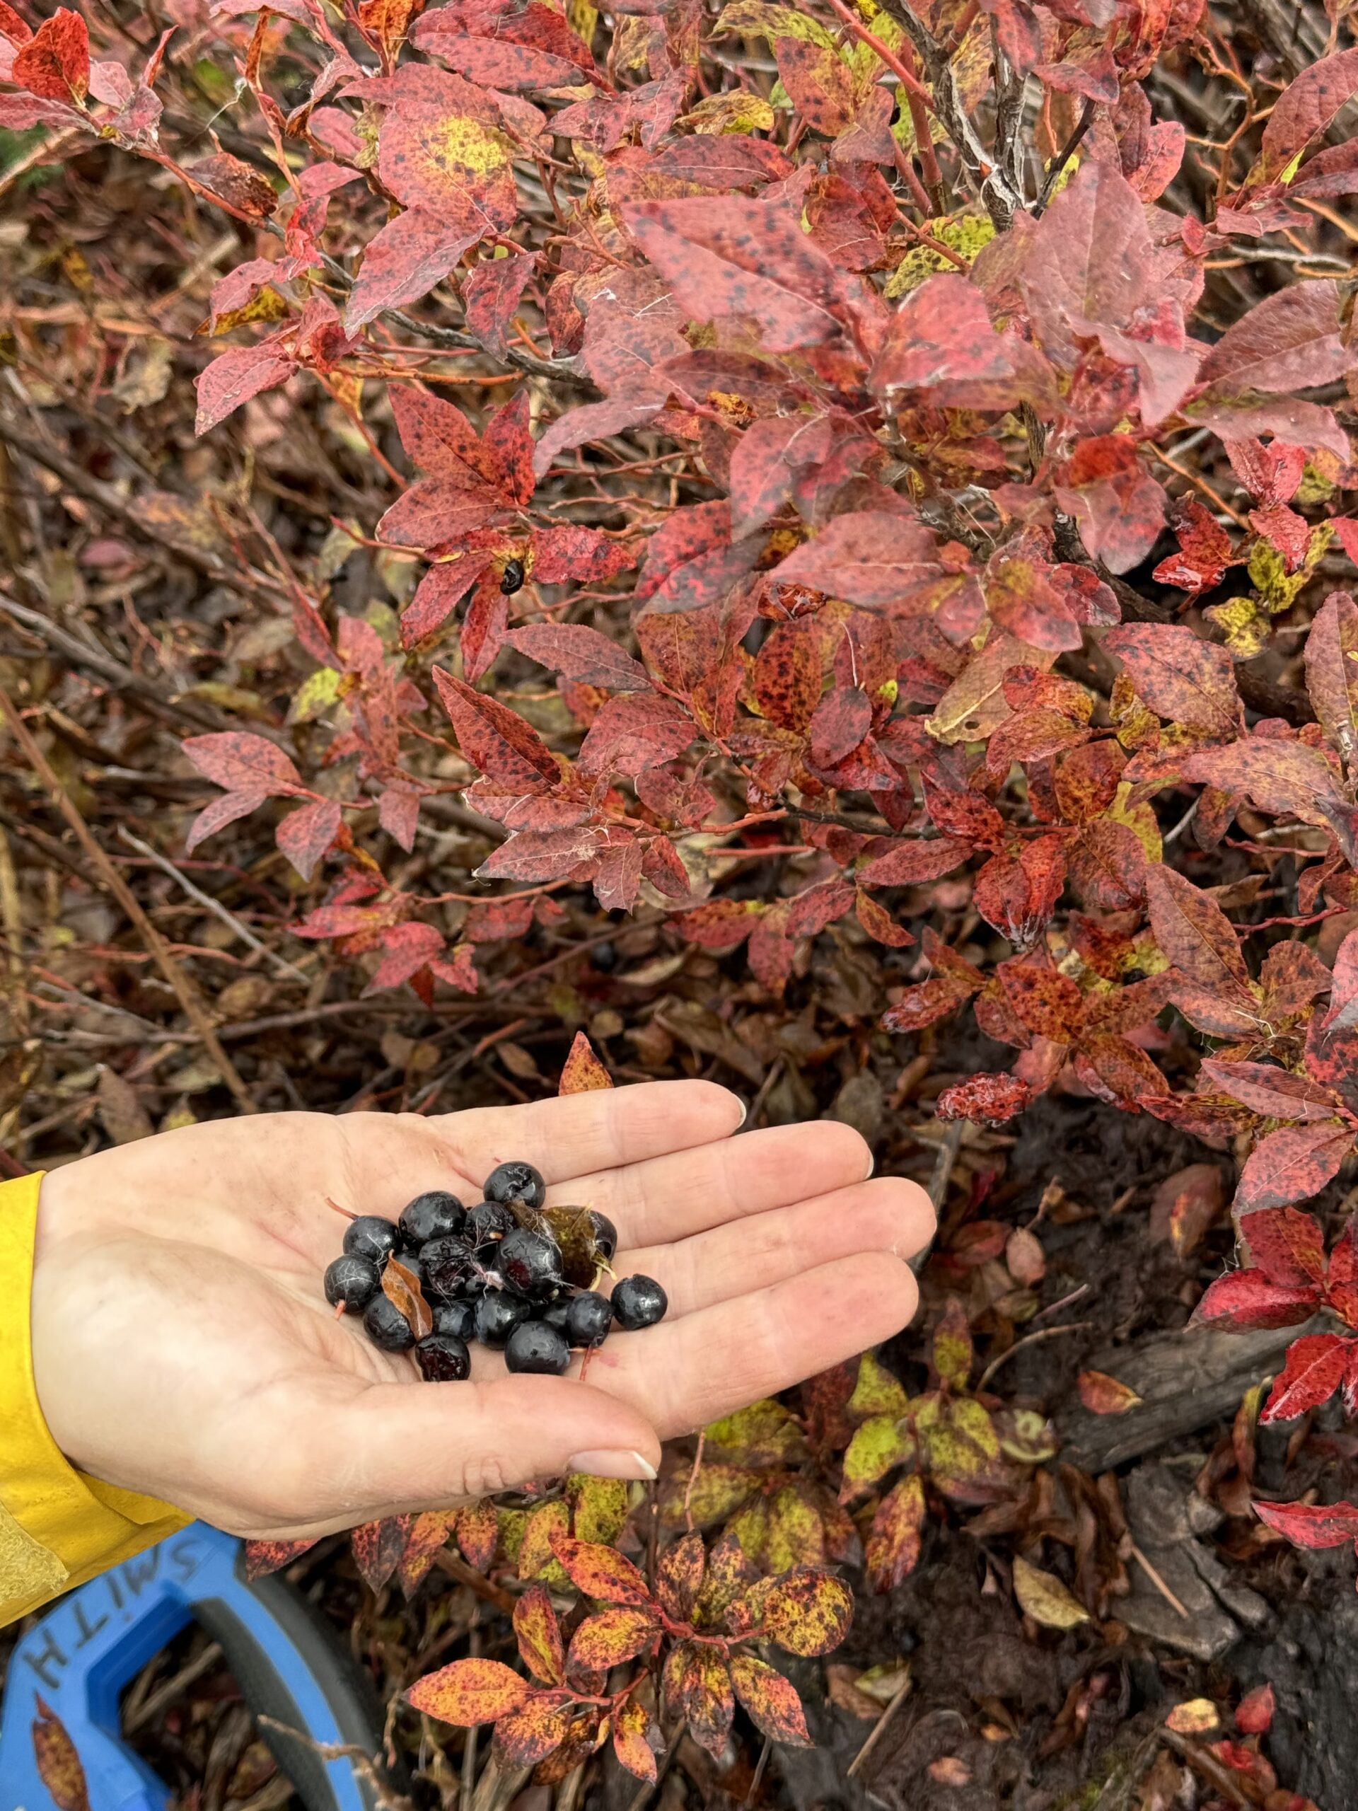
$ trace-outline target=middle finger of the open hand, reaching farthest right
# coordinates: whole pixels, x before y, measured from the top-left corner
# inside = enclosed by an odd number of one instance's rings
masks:
[[[670,1297],[670,1313],[692,1315],[858,1251],[909,1259],[934,1224],[932,1203],[916,1183],[882,1175],[693,1239],[619,1251],[614,1270],[654,1277]]]

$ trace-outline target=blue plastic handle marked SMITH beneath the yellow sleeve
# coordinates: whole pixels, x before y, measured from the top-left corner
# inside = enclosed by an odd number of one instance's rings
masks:
[[[38,1699],[62,1720],[85,1771],[91,1811],[167,1811],[170,1793],[121,1740],[120,1693],[186,1623],[221,1643],[261,1728],[306,1811],[375,1811],[351,1760],[380,1746],[371,1684],[333,1632],[281,1577],[244,1581],[244,1547],[206,1523],[148,1547],[69,1592],[14,1648],[0,1715],[0,1811],[62,1811],[38,1773]]]

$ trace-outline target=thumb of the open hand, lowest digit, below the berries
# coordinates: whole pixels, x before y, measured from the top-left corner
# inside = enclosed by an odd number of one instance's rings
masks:
[[[655,1478],[661,1461],[637,1409],[565,1376],[375,1384],[344,1423],[346,1481],[380,1514],[451,1509],[572,1471]]]

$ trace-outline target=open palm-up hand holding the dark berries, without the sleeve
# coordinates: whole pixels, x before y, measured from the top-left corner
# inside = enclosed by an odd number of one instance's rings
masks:
[[[38,1398],[69,1460],[234,1534],[295,1539],[587,1471],[650,1478],[659,1442],[896,1333],[934,1215],[867,1181],[831,1121],[732,1139],[741,1103],[657,1081],[422,1119],[215,1119],[43,1179],[33,1280]],[[601,1208],[614,1268],[670,1313],[574,1376],[424,1384],[320,1291],[344,1221],[426,1188],[467,1203],[507,1157],[549,1203]],[[574,1371],[579,1369],[576,1360]],[[418,1389],[406,1385],[420,1384]]]

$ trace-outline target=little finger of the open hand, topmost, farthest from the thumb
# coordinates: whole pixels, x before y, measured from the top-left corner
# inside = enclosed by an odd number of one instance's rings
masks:
[[[335,1125],[357,1201],[368,1213],[395,1219],[424,1188],[480,1201],[482,1183],[507,1159],[523,1159],[549,1183],[563,1183],[726,1139],[742,1119],[741,1101],[712,1081],[643,1081],[429,1119],[346,1114]]]

